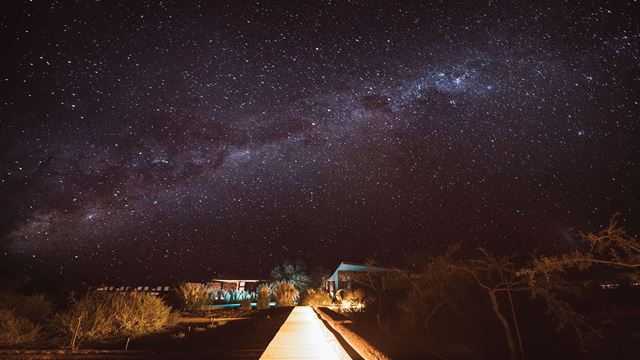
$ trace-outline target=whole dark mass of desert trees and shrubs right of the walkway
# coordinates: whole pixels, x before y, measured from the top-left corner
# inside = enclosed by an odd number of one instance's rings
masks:
[[[560,255],[526,259],[451,246],[417,259],[410,271],[352,273],[352,281],[366,290],[370,302],[365,314],[353,314],[354,319],[376,324],[397,343],[409,342],[414,348],[424,344],[423,350],[444,357],[506,353],[521,359],[536,354],[535,344],[559,338],[564,339],[558,343],[562,351],[594,352],[603,341],[594,318],[603,313],[589,307],[601,297],[583,285],[593,274],[587,271],[604,267],[600,270],[624,272],[637,281],[640,247],[617,217],[604,230],[581,233],[580,238],[579,250]],[[588,297],[591,301],[585,302]],[[622,302],[615,311],[634,316],[628,304]],[[612,319],[602,321],[600,325],[606,325]],[[634,333],[640,335],[637,330],[622,332],[631,337]],[[500,348],[504,353],[496,350]]]

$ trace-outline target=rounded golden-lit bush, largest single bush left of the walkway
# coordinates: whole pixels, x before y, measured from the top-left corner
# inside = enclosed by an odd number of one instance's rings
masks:
[[[171,319],[171,308],[153,294],[87,294],[55,319],[57,330],[70,341],[77,330],[76,344],[104,341],[113,337],[135,337],[160,330]]]

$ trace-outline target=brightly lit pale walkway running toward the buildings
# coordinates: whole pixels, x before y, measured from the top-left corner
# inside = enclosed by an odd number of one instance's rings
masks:
[[[309,306],[296,306],[260,359],[351,359]]]

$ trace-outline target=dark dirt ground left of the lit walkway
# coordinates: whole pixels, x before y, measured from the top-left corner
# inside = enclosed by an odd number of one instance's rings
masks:
[[[4,350],[0,359],[258,359],[292,308],[239,309],[188,315],[186,322],[161,333],[110,344],[85,344],[76,353],[62,350]],[[207,314],[204,314],[207,315]],[[211,314],[209,314],[211,315]],[[237,318],[241,319],[227,320]],[[193,320],[193,321],[191,321]]]

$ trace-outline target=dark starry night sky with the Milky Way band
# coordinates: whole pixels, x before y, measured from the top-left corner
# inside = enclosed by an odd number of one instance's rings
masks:
[[[277,4],[276,4],[277,3]],[[0,15],[0,268],[96,284],[640,229],[637,1]]]

